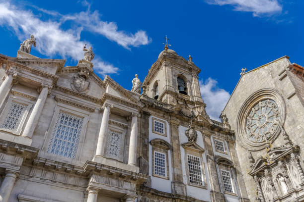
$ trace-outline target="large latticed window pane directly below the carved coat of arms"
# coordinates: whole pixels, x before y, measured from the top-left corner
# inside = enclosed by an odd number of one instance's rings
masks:
[[[48,152],[69,158],[75,158],[83,117],[59,112],[53,130]]]

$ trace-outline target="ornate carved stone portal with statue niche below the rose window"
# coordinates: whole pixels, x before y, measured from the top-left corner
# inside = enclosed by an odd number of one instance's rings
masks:
[[[260,202],[304,200],[304,173],[298,161],[298,146],[277,147],[260,156],[249,175],[256,182]],[[302,177],[303,176],[303,177]]]

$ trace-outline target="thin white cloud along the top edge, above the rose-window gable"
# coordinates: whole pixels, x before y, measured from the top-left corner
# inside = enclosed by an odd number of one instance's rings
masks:
[[[254,16],[282,11],[278,0],[205,0],[209,4],[232,5],[236,11],[253,12]]]

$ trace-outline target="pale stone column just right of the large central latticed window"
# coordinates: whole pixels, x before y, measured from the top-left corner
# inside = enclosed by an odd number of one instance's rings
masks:
[[[109,103],[104,103],[102,106],[103,114],[100,124],[100,130],[97,141],[97,148],[95,156],[103,156],[104,155],[104,147],[105,147],[105,136],[108,131],[109,117],[110,117],[110,107]]]

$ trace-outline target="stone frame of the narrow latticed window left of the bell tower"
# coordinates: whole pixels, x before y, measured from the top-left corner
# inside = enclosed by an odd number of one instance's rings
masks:
[[[122,135],[121,141],[120,141],[120,154],[119,154],[119,157],[114,157],[114,156],[107,155],[107,150],[108,150],[108,147],[109,147],[109,144],[107,144],[107,146],[104,149],[105,156],[107,158],[112,158],[112,159],[123,162],[124,161],[124,151],[125,151],[124,145],[125,145],[126,132],[125,132],[124,128],[118,127],[116,125],[108,125],[106,143],[108,143],[108,140],[109,140],[109,137],[110,137],[110,131],[115,131],[115,132],[121,133],[121,135]]]

